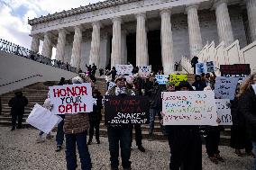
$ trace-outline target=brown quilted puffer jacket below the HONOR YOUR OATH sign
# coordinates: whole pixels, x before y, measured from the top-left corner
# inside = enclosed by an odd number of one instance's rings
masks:
[[[89,117],[86,112],[65,114],[64,132],[66,134],[82,133],[89,127]]]

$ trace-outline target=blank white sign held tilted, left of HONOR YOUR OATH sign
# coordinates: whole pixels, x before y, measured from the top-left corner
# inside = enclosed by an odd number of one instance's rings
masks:
[[[50,130],[52,130],[61,120],[61,117],[53,114],[49,110],[41,107],[40,104],[36,103],[26,122],[38,130],[48,134],[50,133]]]

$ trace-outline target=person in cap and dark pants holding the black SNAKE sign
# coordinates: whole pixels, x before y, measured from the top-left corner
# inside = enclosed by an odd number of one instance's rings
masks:
[[[114,83],[117,85],[106,92],[105,95],[135,95],[133,90],[126,88],[124,76],[117,76]],[[107,127],[111,169],[118,170],[119,146],[121,148],[123,170],[131,169],[131,127],[129,125],[116,125]]]

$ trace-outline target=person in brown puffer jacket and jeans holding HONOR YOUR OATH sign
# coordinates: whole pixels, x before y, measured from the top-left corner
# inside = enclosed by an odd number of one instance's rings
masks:
[[[73,84],[92,83],[90,78],[79,75],[72,79]],[[92,168],[90,153],[87,148],[87,129],[89,128],[88,114],[85,112],[66,113],[64,120],[64,132],[66,137],[66,161],[67,169],[74,170],[77,165],[76,144],[80,157],[81,169]]]

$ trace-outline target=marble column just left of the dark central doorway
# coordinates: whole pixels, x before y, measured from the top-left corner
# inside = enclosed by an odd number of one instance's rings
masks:
[[[121,64],[121,18],[114,18],[113,22],[113,37],[111,51],[111,67]]]

